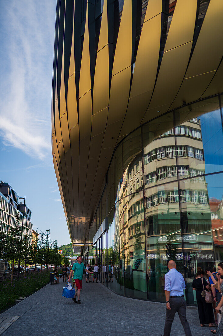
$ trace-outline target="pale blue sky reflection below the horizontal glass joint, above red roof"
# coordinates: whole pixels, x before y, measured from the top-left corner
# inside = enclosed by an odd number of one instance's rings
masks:
[[[223,174],[205,176],[208,186],[208,197],[222,200],[223,197]]]

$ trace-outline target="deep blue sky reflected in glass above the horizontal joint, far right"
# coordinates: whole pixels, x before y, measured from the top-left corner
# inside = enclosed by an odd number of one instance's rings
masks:
[[[220,110],[199,117],[205,156],[205,172],[223,170],[223,133]]]

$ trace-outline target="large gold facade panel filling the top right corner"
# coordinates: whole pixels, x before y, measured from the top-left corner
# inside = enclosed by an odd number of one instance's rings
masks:
[[[222,12],[223,1],[211,0],[185,78],[205,74],[219,66],[223,53]]]

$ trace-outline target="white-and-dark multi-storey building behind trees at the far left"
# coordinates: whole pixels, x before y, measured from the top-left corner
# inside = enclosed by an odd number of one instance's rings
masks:
[[[24,203],[19,203],[19,196],[8,183],[0,181],[0,232],[9,232],[14,226],[15,216],[19,213],[20,223],[22,223],[23,210],[23,238],[25,235],[32,241],[31,210]],[[25,207],[25,209],[24,209]]]

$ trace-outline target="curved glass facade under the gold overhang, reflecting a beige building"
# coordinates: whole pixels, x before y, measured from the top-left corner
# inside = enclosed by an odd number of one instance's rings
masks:
[[[165,301],[174,259],[196,304],[197,267],[223,260],[222,120],[215,96],[158,116],[117,146],[85,255],[111,290]]]

